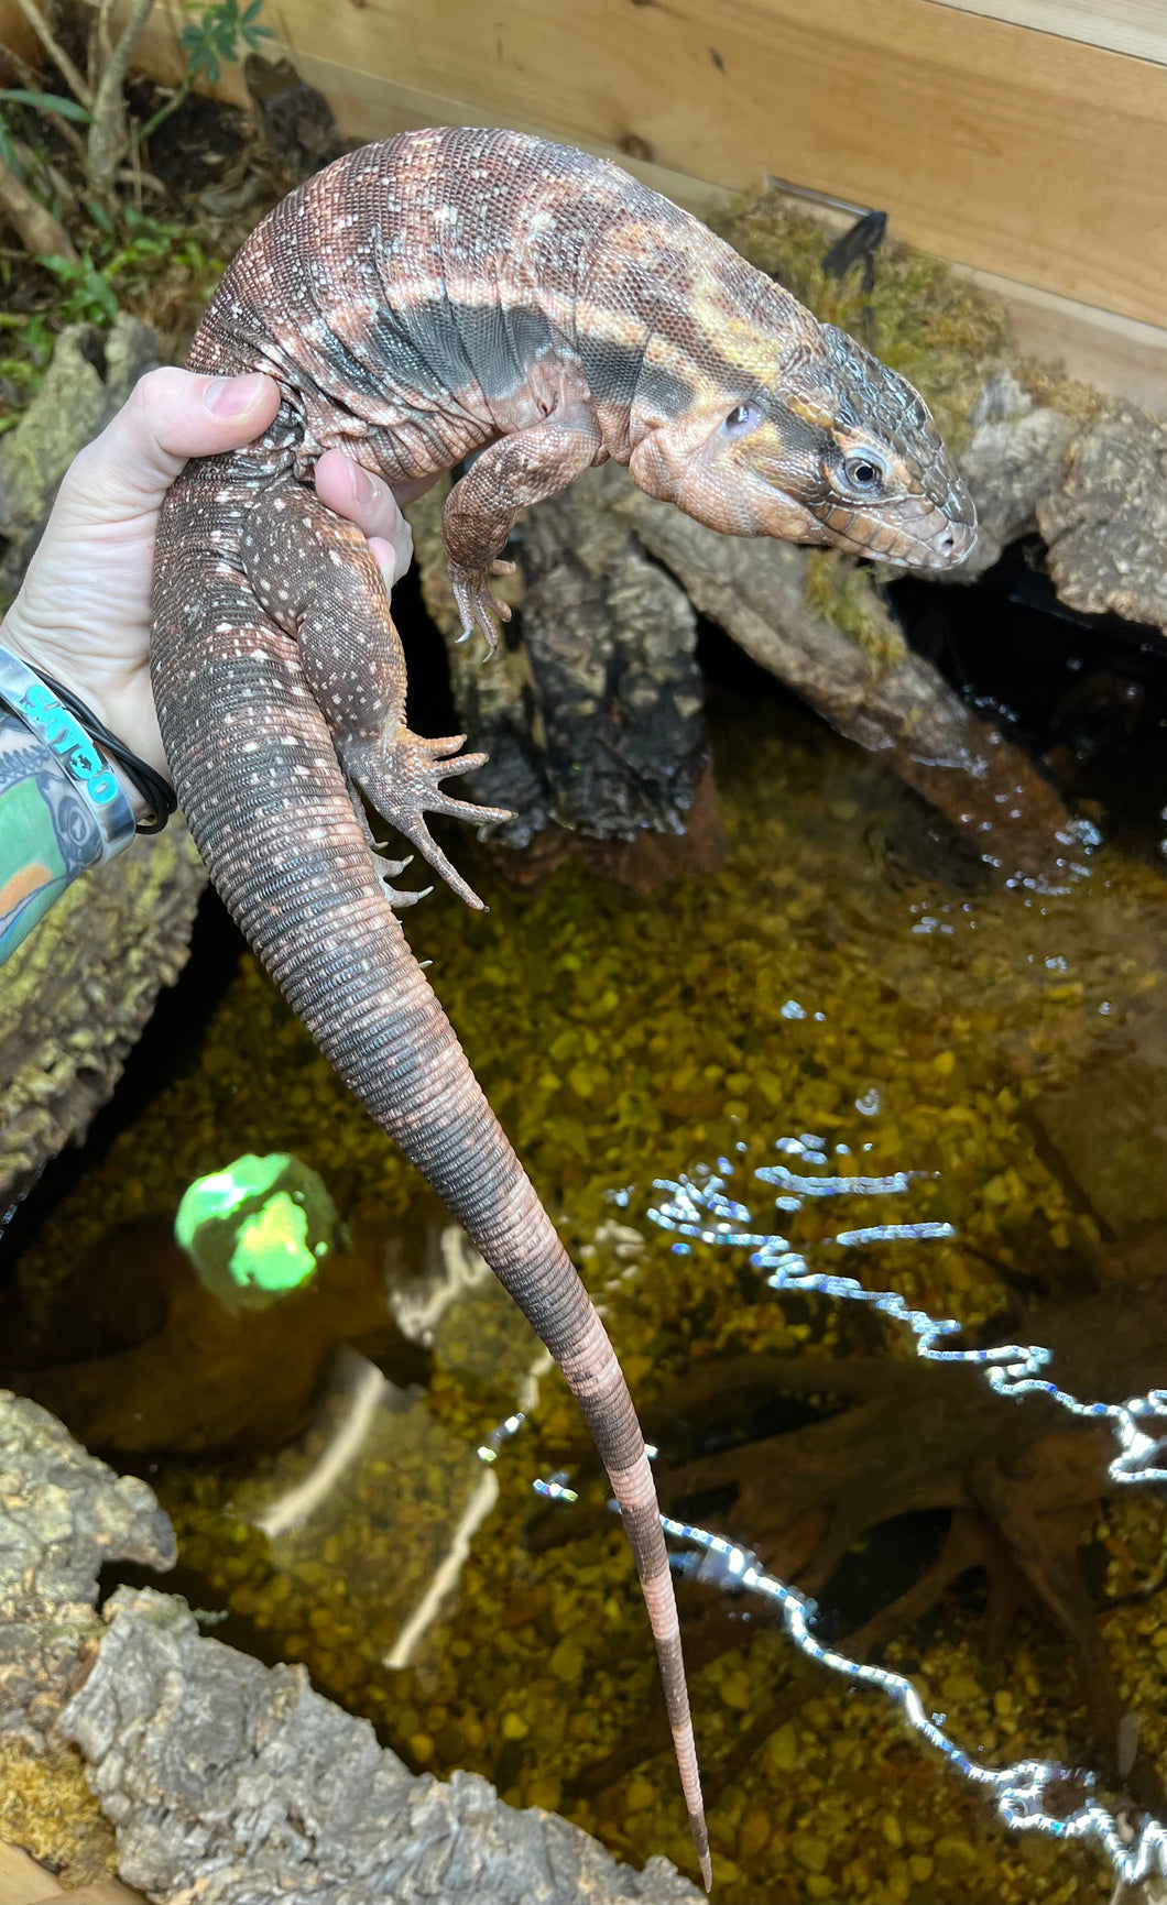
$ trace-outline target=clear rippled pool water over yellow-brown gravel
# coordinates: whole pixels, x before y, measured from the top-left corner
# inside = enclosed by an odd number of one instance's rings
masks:
[[[746,1572],[816,1596],[824,1642],[908,1676],[978,1766],[1058,1760],[1119,1819],[1161,1808],[1159,1494],[1110,1478],[1108,1417],[919,1362],[814,1278],[957,1320],[953,1349],[1049,1345],[1081,1398],[1167,1381],[1167,884],[1102,852],[1064,893],[999,890],[797,711],[727,714],[715,747],[715,878],[522,895],[482,863],[486,920],[435,895],[408,930],[603,1303],[669,1516],[727,1543],[677,1541],[719,1895],[1108,1897],[1096,1848],[1011,1835]],[[193,1177],[275,1151],[347,1248],[240,1320],[170,1227]],[[250,960],[8,1305],[4,1375],[151,1476],[221,1633],[305,1659],[410,1764],[688,1869],[574,1406]]]

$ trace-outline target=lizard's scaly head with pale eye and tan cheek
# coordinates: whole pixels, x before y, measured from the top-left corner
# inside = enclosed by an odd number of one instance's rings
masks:
[[[976,509],[929,408],[831,324],[765,379],[698,394],[654,421],[629,471],[650,495],[728,535],[835,543],[948,570],[976,541]]]

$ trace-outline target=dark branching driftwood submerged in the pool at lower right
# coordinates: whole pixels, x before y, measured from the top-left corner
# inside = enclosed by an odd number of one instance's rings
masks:
[[[1028,1314],[1022,1339],[1054,1351],[1058,1381],[1077,1396],[1117,1402],[1154,1387],[1163,1370],[1161,1269],[1156,1233],[1125,1253],[1112,1250],[1096,1265],[1108,1292]],[[1117,1490],[1108,1467],[1116,1455],[1110,1427],[1075,1421],[1045,1396],[997,1396],[976,1368],[780,1354],[727,1356],[688,1372],[645,1410],[645,1423],[667,1436],[683,1419],[690,1434],[728,1440],[740,1436],[759,1402],[776,1394],[845,1398],[849,1406],[776,1436],[662,1463],[656,1482],[665,1511],[685,1516],[690,1501],[711,1494],[730,1497],[723,1513],[706,1520],[759,1553],[767,1572],[809,1594],[826,1589],[828,1598],[833,1570],[870,1530],[921,1509],[952,1511],[936,1558],[906,1593],[839,1636],[841,1652],[870,1657],[908,1633],[953,1581],[982,1572],[986,1654],[999,1657],[1016,1610],[1049,1621],[1077,1676],[1106,1781],[1161,1815],[1165,1796],[1152,1755],[1138,1751],[1131,1764],[1119,1764],[1129,1695],[1112,1667],[1098,1623],[1104,1608],[1083,1568],[1098,1505]],[[603,1526],[601,1513],[547,1514],[538,1545],[568,1541],[593,1520]],[[765,1621],[749,1627],[727,1621],[719,1604],[709,1606],[707,1589],[692,1589],[686,1598],[692,1671],[719,1654],[747,1648],[765,1631]],[[791,1667],[791,1682],[776,1705],[721,1764],[707,1768],[709,1791],[732,1781],[774,1728],[822,1690],[818,1667],[803,1661]],[[603,1791],[667,1745],[667,1732],[652,1718],[584,1768],[574,1791]]]

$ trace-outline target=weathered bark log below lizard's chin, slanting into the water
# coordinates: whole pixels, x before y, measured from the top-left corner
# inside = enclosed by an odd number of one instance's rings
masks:
[[[494,831],[505,844],[528,846],[551,821],[593,838],[681,831],[704,762],[700,612],[879,752],[982,857],[1009,874],[1064,876],[1075,834],[1053,787],[911,653],[868,572],[719,535],[604,465],[530,511],[513,549],[521,640],[482,665],[458,644],[440,497],[425,505],[414,511],[425,600],[460,718],[492,756],[475,794],[519,815]]]

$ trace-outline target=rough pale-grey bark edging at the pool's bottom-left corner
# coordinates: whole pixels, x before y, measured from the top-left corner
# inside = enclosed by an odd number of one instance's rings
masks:
[[[665,1859],[618,1865],[566,1819],[505,1806],[477,1774],[410,1774],[303,1667],[204,1640],[174,1594],[122,1587],[97,1615],[105,1560],[170,1568],[174,1553],[145,1482],[0,1391],[0,1749],[50,1749],[46,1802],[61,1791],[61,1743],[80,1749],[132,1884],[208,1905],[700,1897]],[[63,1812],[42,1855],[76,1859],[76,1829]]]

